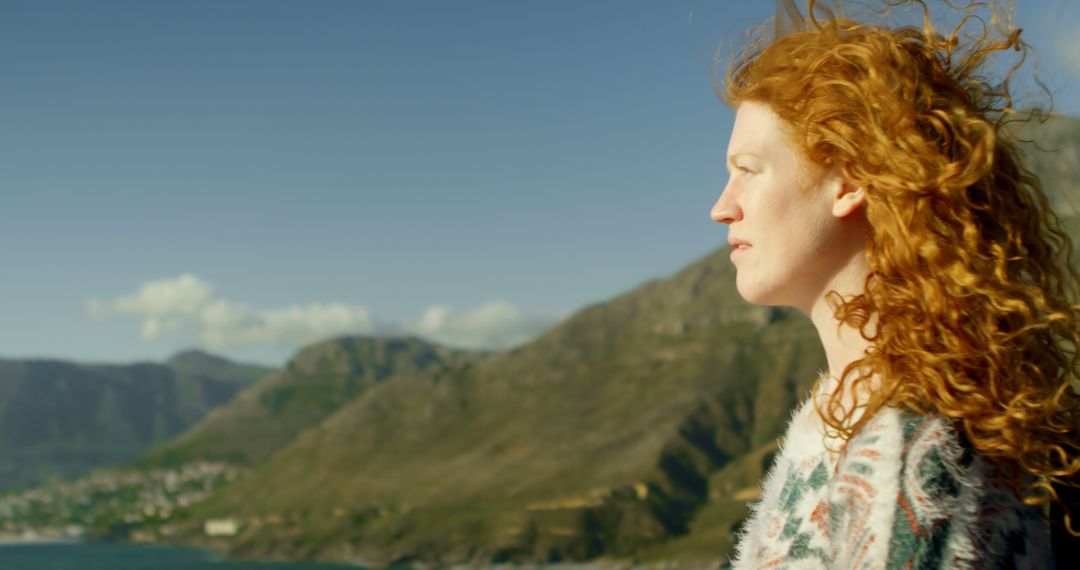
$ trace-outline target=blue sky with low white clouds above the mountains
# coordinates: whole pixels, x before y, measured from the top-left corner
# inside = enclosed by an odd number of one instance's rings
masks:
[[[503,347],[667,275],[747,4],[0,0],[0,356]],[[1017,22],[1080,114],[1080,6]]]

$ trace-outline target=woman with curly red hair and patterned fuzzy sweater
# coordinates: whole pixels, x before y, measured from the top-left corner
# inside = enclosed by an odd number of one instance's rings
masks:
[[[1080,471],[1080,313],[1069,240],[1009,137],[1018,65],[984,79],[1023,58],[1020,30],[983,4],[946,35],[921,2],[896,28],[809,4],[724,84],[712,217],[739,293],[809,315],[828,362],[734,566],[1052,567],[1045,511]]]

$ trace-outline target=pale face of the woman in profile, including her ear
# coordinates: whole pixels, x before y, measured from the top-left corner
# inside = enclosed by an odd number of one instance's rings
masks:
[[[711,217],[728,225],[739,294],[809,313],[863,250],[865,216],[854,214],[864,192],[839,168],[810,163],[764,103],[739,105],[727,163],[728,182]]]

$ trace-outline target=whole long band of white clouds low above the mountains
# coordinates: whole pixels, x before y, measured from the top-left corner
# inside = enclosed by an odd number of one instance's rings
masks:
[[[86,312],[139,317],[138,336],[145,341],[183,331],[218,351],[295,350],[333,337],[395,331],[449,347],[499,350],[527,342],[562,318],[527,315],[510,302],[492,301],[471,311],[436,304],[416,323],[377,324],[366,307],[338,302],[255,309],[215,297],[213,286],[191,274],[150,281],[112,300],[92,299]]]

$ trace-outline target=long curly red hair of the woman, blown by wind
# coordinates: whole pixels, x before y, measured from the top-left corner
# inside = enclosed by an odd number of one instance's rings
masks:
[[[1002,476],[1027,481],[1015,488],[1026,502],[1045,504],[1050,484],[1080,472],[1080,308],[1071,242],[1008,127],[1028,48],[984,3],[948,35],[923,2],[901,3],[921,26],[862,24],[810,0],[801,29],[730,65],[723,97],[769,105],[812,163],[866,189],[865,291],[829,299],[874,347],[841,383],[880,383],[855,409],[835,391],[823,420],[850,438],[883,406],[951,418]],[[990,57],[1010,53],[988,80]]]

